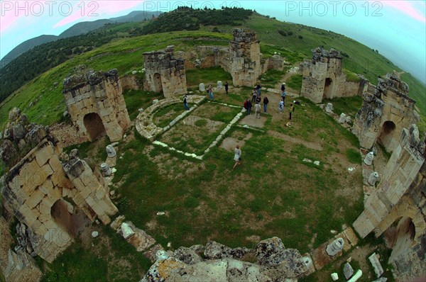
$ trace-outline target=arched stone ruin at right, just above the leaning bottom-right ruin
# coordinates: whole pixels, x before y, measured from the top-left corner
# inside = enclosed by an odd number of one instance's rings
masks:
[[[361,147],[370,149],[379,141],[391,152],[398,146],[401,130],[417,122],[415,101],[408,91],[396,72],[379,78],[376,87],[368,87],[352,128]]]

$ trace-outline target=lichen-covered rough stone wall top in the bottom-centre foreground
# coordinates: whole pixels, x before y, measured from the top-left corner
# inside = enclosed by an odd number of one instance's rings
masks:
[[[265,239],[255,249],[231,249],[217,242],[160,250],[141,279],[154,281],[297,281],[312,273],[312,260],[297,249],[285,249],[278,237]],[[256,263],[245,260],[252,257]]]

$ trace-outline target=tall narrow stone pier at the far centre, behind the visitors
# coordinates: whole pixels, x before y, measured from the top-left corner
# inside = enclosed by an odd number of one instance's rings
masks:
[[[261,47],[256,33],[234,28],[229,42],[230,73],[234,86],[254,86],[261,75]]]

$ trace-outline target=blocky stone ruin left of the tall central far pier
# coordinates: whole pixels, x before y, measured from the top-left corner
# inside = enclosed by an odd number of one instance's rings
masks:
[[[187,94],[185,61],[175,58],[175,46],[143,53],[145,89],[161,92],[165,98]]]

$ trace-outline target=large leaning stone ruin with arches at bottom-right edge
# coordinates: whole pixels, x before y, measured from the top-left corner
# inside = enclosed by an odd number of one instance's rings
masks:
[[[403,128],[378,187],[354,222],[362,238],[372,231],[376,237],[384,233],[388,238],[393,249],[389,263],[394,264],[401,281],[425,275],[425,142],[420,140],[416,125]]]

